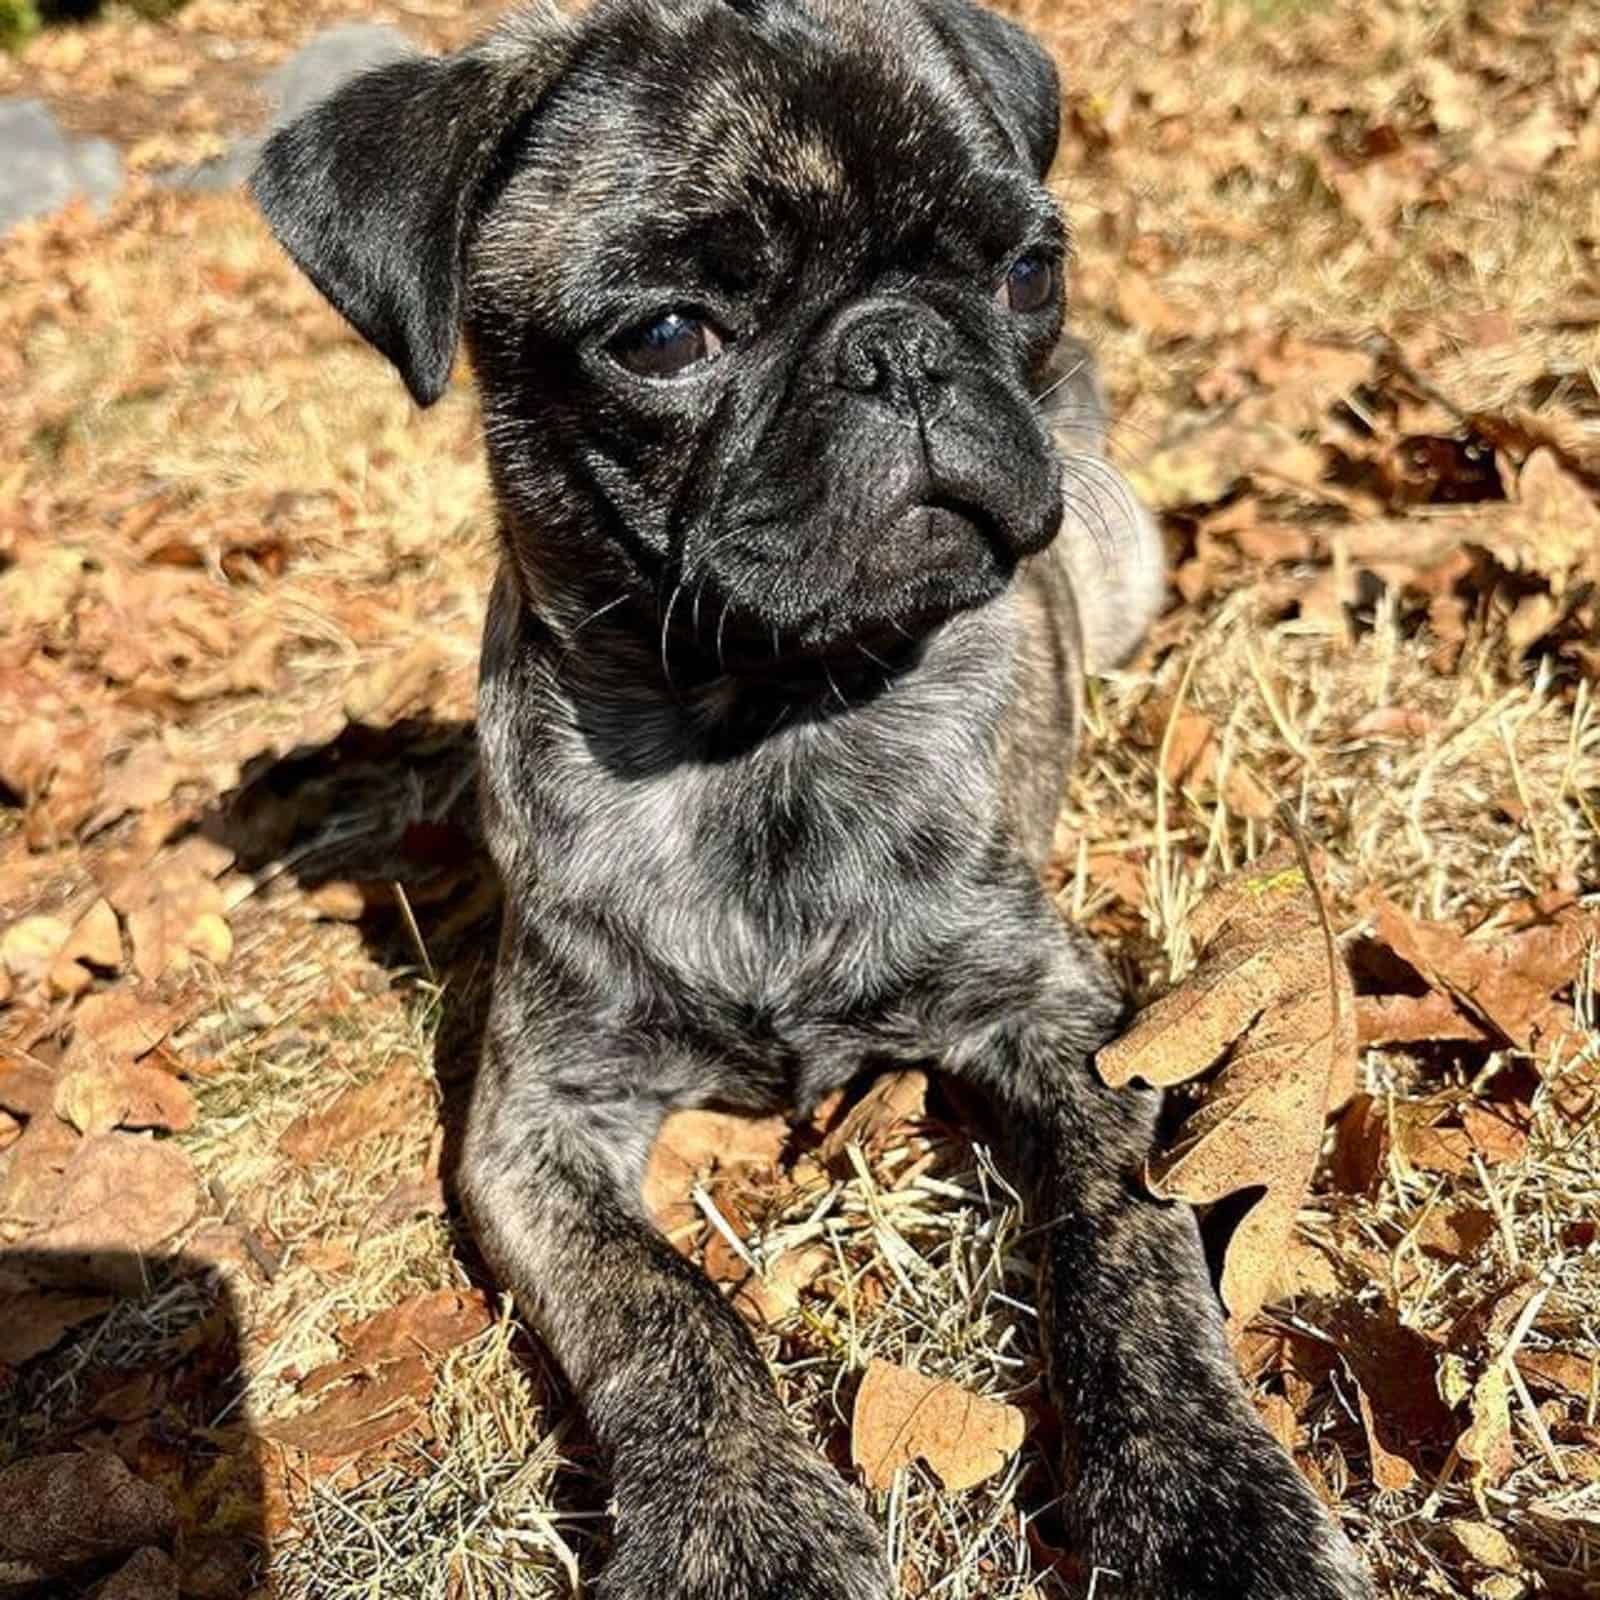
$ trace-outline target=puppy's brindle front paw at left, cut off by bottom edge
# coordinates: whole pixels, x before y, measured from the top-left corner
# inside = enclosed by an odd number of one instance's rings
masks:
[[[888,1600],[878,1530],[808,1451],[752,1440],[619,1493],[598,1600]]]

